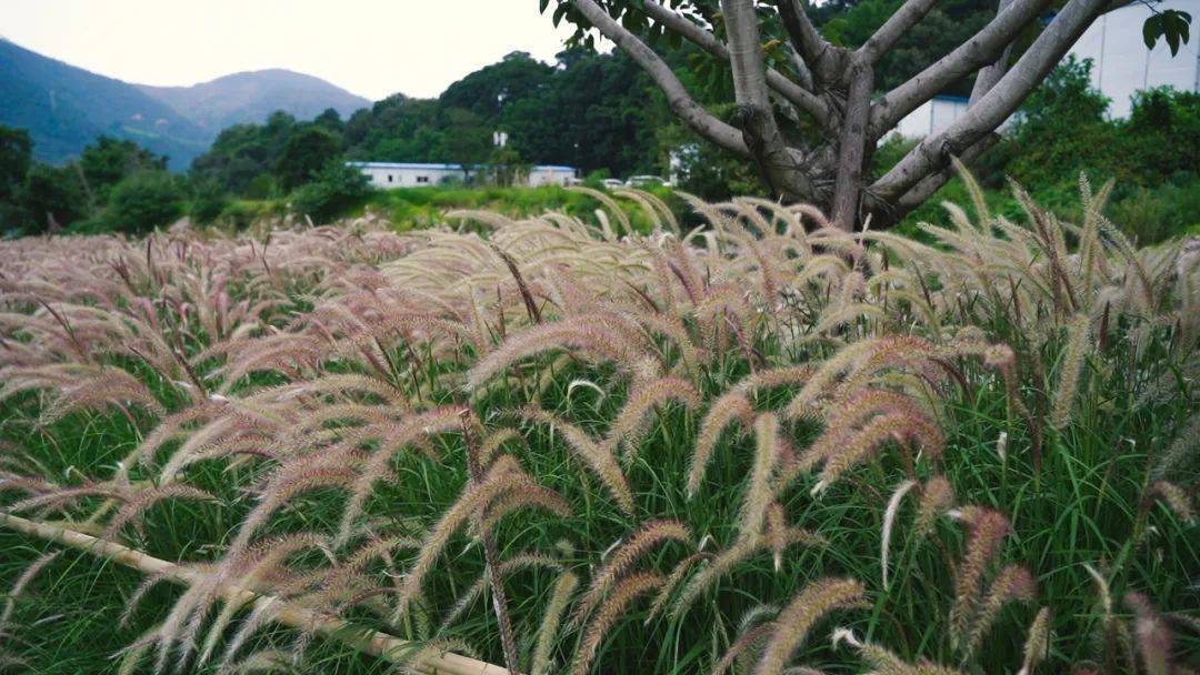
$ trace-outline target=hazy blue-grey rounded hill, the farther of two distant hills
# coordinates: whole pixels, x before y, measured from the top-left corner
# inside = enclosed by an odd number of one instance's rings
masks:
[[[281,68],[234,73],[193,86],[134,86],[170,106],[210,137],[232,125],[260,122],[276,110],[311,120],[328,108],[348,117],[371,106],[366,98],[320,78]]]

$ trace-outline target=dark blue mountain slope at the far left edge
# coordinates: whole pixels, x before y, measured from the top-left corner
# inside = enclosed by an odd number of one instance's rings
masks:
[[[64,162],[100,134],[136,140],[186,168],[212,132],[121,80],[0,38],[0,123],[29,129],[38,159]]]

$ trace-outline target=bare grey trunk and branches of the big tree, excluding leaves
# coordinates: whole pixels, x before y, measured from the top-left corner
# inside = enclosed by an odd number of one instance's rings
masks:
[[[805,0],[720,0],[720,18],[696,19],[661,0],[606,2],[560,0],[617,44],[664,91],[672,110],[698,135],[754,162],[775,194],[808,201],[830,213],[842,229],[887,228],[919,206],[950,179],[952,157],[965,162],[996,141],[995,131],[1045,79],[1080,35],[1112,0],[1067,0],[1054,20],[1009,66],[1013,43],[1051,0],[998,0],[996,16],[970,40],[895,89],[876,96],[875,65],[936,0],[906,0],[862,47],[830,44],[812,25]],[[760,6],[761,5],[761,6]],[[764,58],[760,13],[778,13],[794,55],[794,73],[772,68]],[[721,120],[688,92],[670,66],[618,20],[620,11],[642,12],[666,31],[727,61],[733,74],[734,113]],[[725,40],[713,31],[724,22]],[[788,68],[784,68],[785,71]],[[886,175],[868,182],[872,152],[895,125],[950,83],[978,73],[967,112],[924,139]],[[811,116],[823,141],[798,146],[778,115]]]

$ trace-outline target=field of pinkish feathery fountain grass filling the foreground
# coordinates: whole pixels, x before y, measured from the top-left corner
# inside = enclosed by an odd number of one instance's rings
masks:
[[[0,526],[0,663],[395,667],[236,584],[421,673],[1195,670],[1200,249],[1105,192],[0,242],[0,505],[205,579]]]

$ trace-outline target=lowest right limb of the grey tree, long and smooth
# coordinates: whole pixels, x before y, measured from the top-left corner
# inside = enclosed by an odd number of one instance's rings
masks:
[[[1020,0],[1018,0],[1020,1]],[[965,151],[1004,122],[1050,73],[1070,46],[1104,11],[1110,0],[1070,0],[1016,65],[988,94],[944,131],[925,138],[871,186],[893,201],[925,176],[941,170],[950,155]]]

